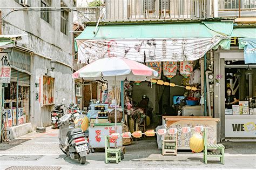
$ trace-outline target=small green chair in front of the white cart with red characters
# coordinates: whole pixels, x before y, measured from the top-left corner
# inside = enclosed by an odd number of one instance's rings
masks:
[[[105,137],[105,162],[108,164],[111,160],[116,163],[121,161],[121,148],[110,148],[110,137]]]

